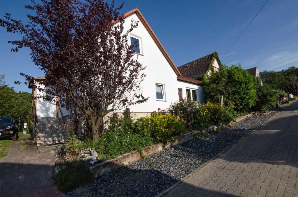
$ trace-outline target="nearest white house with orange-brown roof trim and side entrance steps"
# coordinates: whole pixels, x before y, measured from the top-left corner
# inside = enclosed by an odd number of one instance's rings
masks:
[[[131,113],[134,113],[136,118],[150,115],[158,108],[167,109],[171,103],[186,97],[193,101],[198,101],[198,103],[203,103],[203,82],[181,75],[141,12],[136,8],[127,12],[124,17],[124,32],[130,28],[132,20],[139,21],[138,27],[129,35],[129,43],[136,42],[139,44],[139,46],[134,48],[136,51],[135,57],[138,58],[142,65],[146,66],[144,71],[146,77],[141,83],[142,90],[139,94],[149,97],[147,102],[129,107]],[[216,60],[213,65],[216,65],[215,62]],[[219,68],[218,66],[215,67],[216,69]],[[42,78],[35,78],[33,83],[38,84],[40,80]],[[40,92],[38,89],[35,89],[32,93],[36,96]],[[43,145],[59,142],[51,134],[61,136],[58,126],[67,120],[68,111],[60,108],[55,103],[43,101],[42,99],[33,100],[32,103],[34,109],[32,120],[38,119],[37,129],[42,127],[42,131],[47,131],[44,132],[44,137],[42,137],[43,134],[41,132],[40,140],[38,137],[36,138],[37,144]],[[118,112],[124,112],[124,110]],[[38,126],[40,123],[42,123],[42,126]],[[51,128],[48,128],[48,125]],[[38,133],[40,133],[39,130]]]

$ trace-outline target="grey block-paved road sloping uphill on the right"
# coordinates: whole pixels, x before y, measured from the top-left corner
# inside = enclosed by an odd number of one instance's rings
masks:
[[[298,196],[298,101],[168,196]]]

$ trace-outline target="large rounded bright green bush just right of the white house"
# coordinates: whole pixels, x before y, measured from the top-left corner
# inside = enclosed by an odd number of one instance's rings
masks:
[[[224,104],[235,103],[235,110],[247,111],[255,105],[256,90],[252,76],[238,66],[221,66],[219,71],[204,77],[204,91],[207,101],[219,103],[223,96]]]

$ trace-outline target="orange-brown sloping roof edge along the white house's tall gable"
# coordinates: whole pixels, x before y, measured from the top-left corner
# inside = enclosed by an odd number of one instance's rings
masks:
[[[179,70],[177,69],[176,65],[174,64],[174,62],[172,61],[172,59],[170,58],[169,54],[167,53],[167,51],[164,49],[164,47],[162,46],[162,43],[158,40],[157,36],[155,35],[155,33],[153,32],[153,30],[151,29],[151,27],[149,26],[149,24],[147,23],[147,21],[145,20],[144,16],[142,15],[142,13],[140,12],[140,10],[138,8],[135,8],[129,12],[126,12],[125,14],[123,14],[123,18],[126,18],[132,14],[136,14],[140,21],[142,22],[142,24],[145,26],[145,28],[147,29],[148,33],[150,34],[150,36],[152,37],[152,39],[154,40],[154,42],[156,43],[157,47],[159,48],[159,50],[162,52],[162,54],[164,55],[164,57],[166,58],[166,60],[169,62],[169,64],[171,65],[171,67],[173,68],[173,70],[175,71],[177,76],[181,76],[181,73],[179,72]],[[119,21],[119,20],[118,20]],[[115,23],[117,23],[118,21],[115,21]]]

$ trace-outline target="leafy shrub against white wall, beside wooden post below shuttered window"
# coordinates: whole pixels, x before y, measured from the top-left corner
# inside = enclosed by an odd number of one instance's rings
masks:
[[[186,120],[186,107],[190,107],[190,111],[194,112],[196,108],[198,108],[198,103],[194,101],[187,101],[184,98],[182,101],[176,101],[171,104],[168,108],[168,111],[182,120]]]

